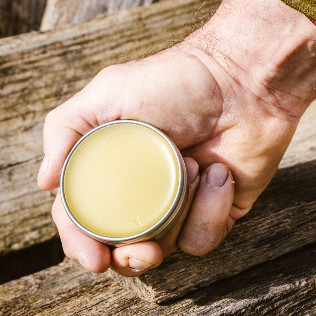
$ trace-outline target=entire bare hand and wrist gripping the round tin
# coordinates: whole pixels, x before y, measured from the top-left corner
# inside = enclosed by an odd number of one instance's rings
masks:
[[[93,272],[137,276],[178,247],[215,249],[269,184],[316,98],[315,56],[316,28],[301,13],[280,0],[226,0],[180,44],[102,70],[47,115],[38,185],[59,186],[71,147],[93,127],[137,119],[187,157],[189,200],[161,240],[110,250],[72,224],[58,194],[52,216],[65,254]]]

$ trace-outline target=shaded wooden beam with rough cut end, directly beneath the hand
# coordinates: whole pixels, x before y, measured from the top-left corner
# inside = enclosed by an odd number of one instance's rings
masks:
[[[139,277],[111,271],[112,277],[144,300],[162,302],[316,242],[315,170],[316,160],[279,169],[252,210],[209,254],[177,251]]]

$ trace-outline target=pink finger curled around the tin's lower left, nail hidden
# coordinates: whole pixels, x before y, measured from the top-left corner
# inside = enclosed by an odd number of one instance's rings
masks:
[[[58,191],[52,206],[52,217],[58,228],[65,255],[94,273],[102,273],[111,262],[108,246],[84,234],[71,222]]]

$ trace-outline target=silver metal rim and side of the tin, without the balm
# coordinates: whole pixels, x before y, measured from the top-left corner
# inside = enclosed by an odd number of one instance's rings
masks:
[[[171,204],[170,208],[167,210],[164,216],[161,217],[161,219],[156,222],[153,226],[150,228],[141,231],[138,234],[134,234],[131,236],[124,236],[124,237],[110,237],[110,236],[104,236],[97,234],[85,226],[83,226],[80,222],[78,222],[73,215],[72,211],[68,207],[68,204],[66,202],[65,194],[64,194],[64,174],[65,170],[67,168],[67,163],[71,157],[71,155],[74,153],[76,148],[80,145],[80,143],[88,136],[90,136],[92,133],[95,131],[104,128],[109,125],[113,124],[121,124],[121,123],[129,123],[129,124],[138,124],[142,125],[144,127],[149,128],[150,130],[156,132],[158,135],[160,135],[170,146],[170,149],[172,150],[173,154],[175,155],[175,159],[177,162],[177,167],[178,167],[178,172],[179,172],[179,182],[178,182],[178,187],[176,191],[175,198],[173,200],[173,203]],[[61,192],[61,198],[64,204],[64,208],[70,217],[71,221],[79,227],[85,234],[88,236],[92,237],[95,240],[98,240],[102,243],[119,247],[119,246],[124,246],[127,244],[135,243],[135,242],[141,242],[141,241],[146,241],[146,240],[157,240],[164,234],[166,234],[173,226],[174,224],[178,221],[179,217],[181,216],[185,204],[187,202],[188,198],[188,182],[187,182],[187,175],[186,175],[186,169],[185,169],[185,164],[183,161],[183,158],[178,150],[178,148],[175,146],[175,144],[172,142],[172,140],[167,137],[166,134],[164,134],[162,131],[157,129],[156,127],[149,125],[147,123],[143,123],[140,121],[135,121],[135,120],[116,120],[116,121],[111,121],[108,123],[105,123],[103,125],[97,126],[96,128],[92,129],[89,131],[87,134],[85,134],[83,137],[79,139],[79,141],[75,144],[75,146],[71,149],[69,155],[67,156],[64,166],[62,168],[62,173],[60,177],[60,192]]]

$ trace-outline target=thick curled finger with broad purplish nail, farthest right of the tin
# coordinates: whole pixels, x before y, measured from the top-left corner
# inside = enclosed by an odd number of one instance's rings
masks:
[[[179,234],[179,247],[196,256],[215,249],[227,234],[233,199],[234,181],[229,169],[219,163],[208,167],[201,175],[191,210]]]

